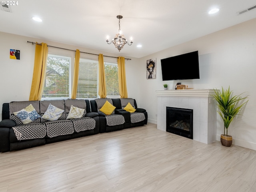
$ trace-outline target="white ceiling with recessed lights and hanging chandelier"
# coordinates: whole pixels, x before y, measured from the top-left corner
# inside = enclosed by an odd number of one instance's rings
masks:
[[[255,0],[22,0],[0,10],[0,31],[141,58],[256,18]],[[219,8],[216,14],[208,14]],[[120,27],[133,44],[118,52],[106,38]],[[40,17],[42,22],[32,20]],[[137,45],[142,45],[138,48]]]

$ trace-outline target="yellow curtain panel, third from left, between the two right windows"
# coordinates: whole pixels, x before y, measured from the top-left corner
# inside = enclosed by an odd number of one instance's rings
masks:
[[[100,98],[107,97],[105,68],[102,54],[99,54],[99,96]]]

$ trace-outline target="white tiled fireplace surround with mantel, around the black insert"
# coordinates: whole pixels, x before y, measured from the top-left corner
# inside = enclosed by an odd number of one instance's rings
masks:
[[[216,102],[213,89],[157,90],[157,128],[166,131],[166,107],[193,109],[193,140],[216,140]]]

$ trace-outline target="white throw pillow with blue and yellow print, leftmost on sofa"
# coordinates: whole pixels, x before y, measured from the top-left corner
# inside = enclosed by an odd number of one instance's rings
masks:
[[[34,120],[40,118],[41,116],[36,112],[35,108],[30,104],[26,108],[13,113],[16,117],[18,117],[23,124],[28,124],[33,122]]]

